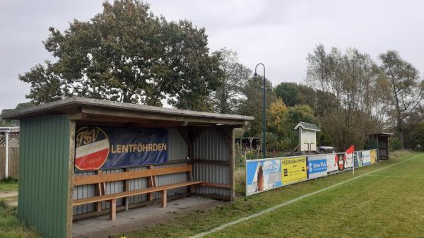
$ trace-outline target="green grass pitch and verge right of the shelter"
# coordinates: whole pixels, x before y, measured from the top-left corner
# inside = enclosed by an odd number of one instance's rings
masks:
[[[399,155],[399,154],[398,154]],[[264,192],[220,208],[187,215],[126,237],[190,237],[360,174],[404,161],[387,162]],[[424,237],[424,154],[360,177],[206,237]],[[237,190],[242,191],[237,185]]]

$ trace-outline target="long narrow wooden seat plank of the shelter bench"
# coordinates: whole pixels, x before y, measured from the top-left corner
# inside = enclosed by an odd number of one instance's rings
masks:
[[[162,186],[153,186],[153,187],[149,187],[147,189],[139,189],[139,190],[134,190],[134,191],[124,191],[124,192],[120,192],[117,194],[107,194],[107,195],[103,195],[103,196],[93,196],[90,198],[81,198],[81,199],[76,199],[73,200],[73,206],[77,206],[77,205],[82,205],[82,204],[86,204],[86,203],[95,203],[95,202],[100,202],[100,201],[110,201],[112,199],[117,199],[117,198],[124,198],[127,196],[135,196],[135,195],[140,195],[140,194],[149,194],[149,193],[153,193],[156,191],[163,191],[163,190],[167,190],[167,189],[176,189],[182,186],[192,186],[192,185],[196,185],[196,184],[203,184],[203,181],[187,181],[187,182],[179,182],[179,183],[175,183],[175,184],[167,184],[167,185],[162,185]]]

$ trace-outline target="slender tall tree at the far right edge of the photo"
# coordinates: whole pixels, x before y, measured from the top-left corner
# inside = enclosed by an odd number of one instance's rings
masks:
[[[396,131],[404,149],[404,121],[424,100],[424,81],[420,73],[410,63],[401,59],[399,52],[391,51],[380,54],[384,78],[391,88],[391,116],[396,121]]]

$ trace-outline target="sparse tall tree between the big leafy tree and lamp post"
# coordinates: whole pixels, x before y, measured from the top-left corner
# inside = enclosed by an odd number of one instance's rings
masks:
[[[212,93],[211,100],[215,112],[230,114],[240,107],[242,88],[252,76],[252,71],[240,64],[237,52],[220,49],[213,55],[219,59],[222,85]]]

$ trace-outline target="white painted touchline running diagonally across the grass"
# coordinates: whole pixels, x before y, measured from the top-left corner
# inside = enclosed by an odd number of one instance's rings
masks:
[[[339,182],[338,184],[334,184],[334,185],[331,185],[331,186],[327,186],[327,187],[326,187],[326,188],[324,188],[324,189],[319,189],[319,190],[314,191],[314,192],[312,192],[312,193],[310,193],[310,194],[302,195],[302,196],[300,196],[300,197],[298,197],[298,198],[294,198],[294,199],[292,199],[292,200],[290,200],[290,201],[286,201],[286,202],[284,202],[284,203],[280,203],[280,204],[278,204],[278,205],[276,205],[276,206],[273,206],[273,207],[271,207],[271,208],[268,208],[268,209],[266,209],[266,210],[262,210],[262,211],[261,211],[261,212],[259,212],[259,213],[255,213],[255,214],[249,215],[249,216],[247,216],[247,217],[245,217],[245,218],[240,218],[240,219],[238,219],[238,220],[234,220],[234,221],[232,221],[232,222],[225,223],[225,224],[223,224],[223,225],[220,225],[219,227],[215,227],[215,228],[213,228],[212,230],[208,230],[207,232],[201,232],[201,233],[196,234],[195,236],[190,237],[190,238],[199,238],[199,237],[204,237],[204,236],[206,236],[206,235],[208,235],[208,234],[211,234],[211,233],[213,233],[213,232],[218,232],[218,231],[223,230],[223,229],[225,229],[225,228],[227,228],[227,227],[231,227],[231,226],[233,226],[233,225],[237,225],[237,224],[239,224],[239,223],[241,223],[241,222],[245,222],[245,221],[250,220],[250,219],[252,219],[252,218],[257,218],[257,217],[259,217],[259,216],[261,216],[261,215],[264,215],[264,214],[267,214],[267,213],[271,213],[271,212],[273,212],[274,210],[277,210],[278,208],[282,208],[283,206],[287,206],[287,205],[289,205],[289,204],[291,204],[291,203],[295,203],[295,202],[297,202],[297,201],[302,200],[303,198],[307,198],[307,197],[313,196],[313,195],[315,195],[315,194],[322,193],[323,191],[327,191],[327,190],[329,190],[329,189],[333,189],[333,188],[335,188],[336,186],[340,186],[340,185],[342,185],[342,184],[346,184],[346,183],[351,182],[351,181],[353,181],[353,180],[355,180],[355,179],[360,179],[361,177],[367,176],[368,174],[372,174],[372,173],[375,173],[375,172],[379,172],[379,171],[381,171],[381,170],[383,170],[383,169],[387,169],[387,168],[389,168],[389,167],[393,167],[393,166],[395,166],[395,165],[399,165],[399,164],[401,164],[401,163],[403,163],[403,162],[406,162],[406,161],[408,161],[408,160],[412,160],[413,158],[418,157],[418,156],[420,156],[420,155],[423,155],[423,154],[415,155],[415,156],[410,157],[410,158],[408,158],[408,159],[406,159],[406,160],[402,160],[401,162],[397,162],[397,163],[395,163],[395,164],[393,164],[393,165],[387,165],[386,167],[382,167],[382,168],[380,168],[380,169],[376,169],[376,170],[374,170],[374,171],[367,172],[367,173],[365,173],[365,174],[361,174],[361,175],[359,175],[359,176],[357,176],[357,177],[353,177],[352,179],[347,179],[347,180],[345,180],[345,181],[343,181],[343,182]]]

